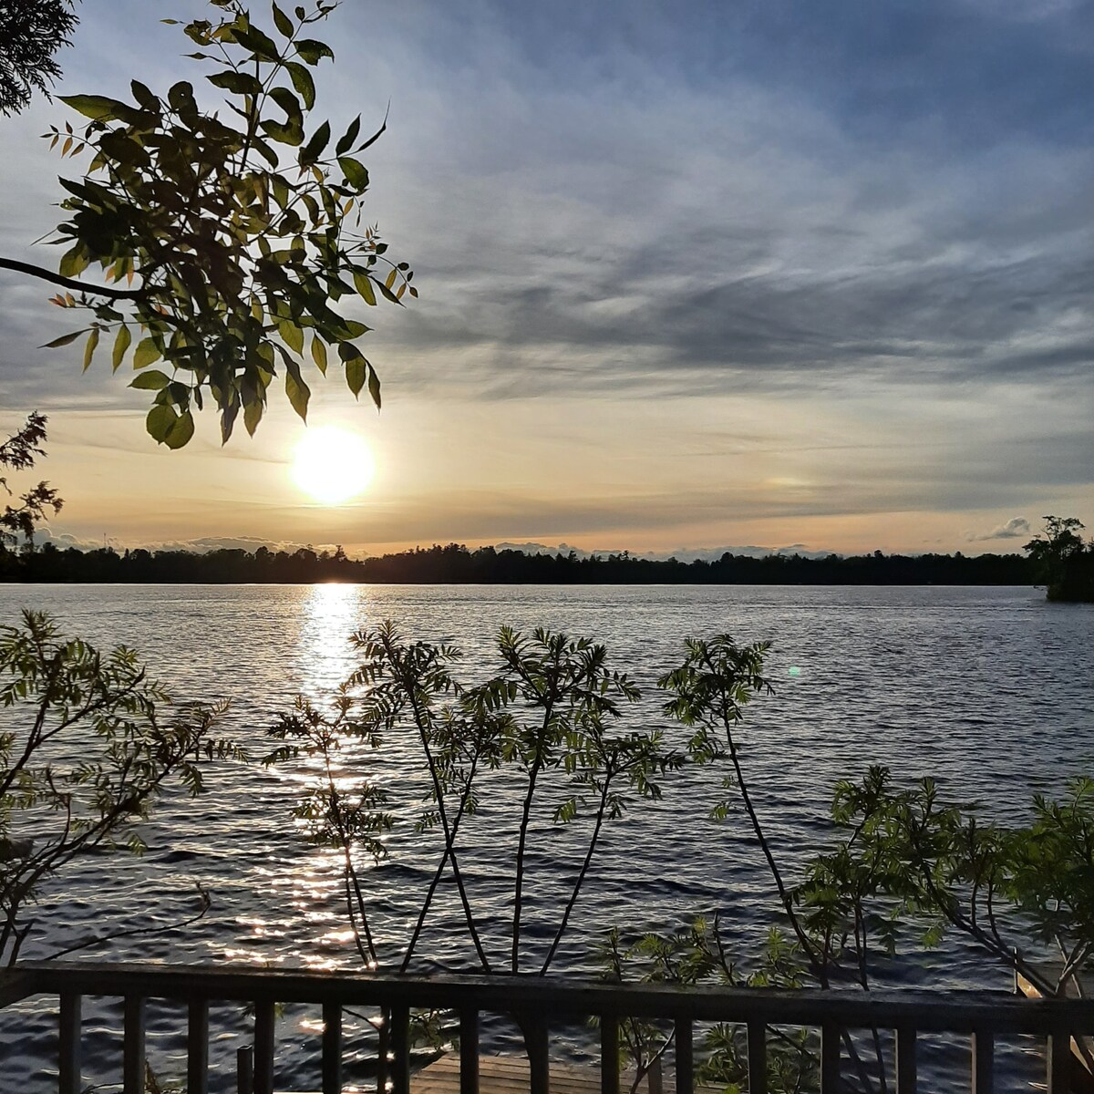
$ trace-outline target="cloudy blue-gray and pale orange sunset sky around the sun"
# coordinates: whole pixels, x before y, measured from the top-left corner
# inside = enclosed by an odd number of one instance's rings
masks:
[[[263,7],[253,9],[256,19]],[[62,93],[165,92],[197,0],[84,0]],[[344,0],[313,117],[388,128],[365,214],[420,298],[368,316],[376,473],[322,505],[279,399],[179,452],[0,271],[0,424],[49,416],[58,540],[1017,550],[1094,527],[1094,3]],[[58,219],[0,118],[0,254]],[[66,161],[65,167],[72,167]]]

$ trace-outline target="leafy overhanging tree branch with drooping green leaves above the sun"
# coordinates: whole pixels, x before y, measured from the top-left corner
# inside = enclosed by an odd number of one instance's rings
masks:
[[[205,79],[224,96],[221,107],[207,108],[208,89],[187,81],[158,94],[135,80],[131,102],[63,96],[88,120],[46,137],[91,162],[82,178],[61,179],[68,219],[51,241],[67,248],[60,277],[7,263],[75,288],[53,302],[92,316],[48,346],[86,335],[86,369],[112,333],[114,370],[127,357],[138,372],[163,363],[130,386],[154,392],[148,432],[172,449],[193,437],[207,396],[223,440],[241,411],[254,433],[279,375],[305,418],[304,368],[314,360],[324,372],[328,346],[354,396],[368,388],[379,408],[379,375],[356,345],[370,328],[338,303],[417,295],[407,264],[387,258],[376,228],[361,220],[369,173],[358,156],[384,126],[361,139],[358,118],[331,150],[329,121],[310,119],[311,70],[334,54],[304,35],[336,4],[292,14],[275,4],[267,33],[238,0],[210,2],[217,18],[185,33],[198,47],[189,56],[214,69]],[[107,284],[72,280],[90,268]]]

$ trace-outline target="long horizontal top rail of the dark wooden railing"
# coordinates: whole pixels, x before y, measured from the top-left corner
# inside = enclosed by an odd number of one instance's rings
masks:
[[[1094,1000],[1029,1000],[982,991],[852,991],[605,984],[534,976],[388,975],[312,969],[213,969],[199,965],[25,963],[0,973],[0,1004],[28,994],[141,996],[151,999],[336,1002],[552,1016],[907,1026],[923,1032],[977,1028],[1094,1033]]]

